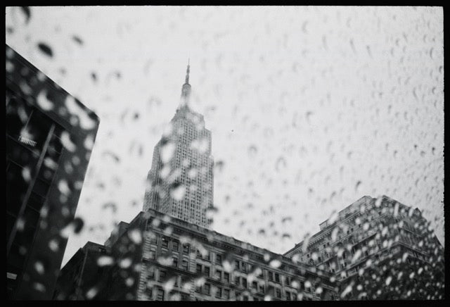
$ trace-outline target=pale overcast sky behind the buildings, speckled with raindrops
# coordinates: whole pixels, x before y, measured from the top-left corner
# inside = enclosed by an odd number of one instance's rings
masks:
[[[432,7],[6,8],[6,43],[101,118],[63,264],[142,210],[188,58],[214,230],[283,253],[385,194],[444,244],[443,39]]]

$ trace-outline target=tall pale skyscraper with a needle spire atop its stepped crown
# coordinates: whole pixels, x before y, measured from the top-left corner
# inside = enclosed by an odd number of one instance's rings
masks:
[[[181,101],[153,151],[143,211],[153,209],[186,222],[209,227],[208,208],[213,204],[214,159],[211,132],[203,115],[189,108],[189,65],[181,89]]]

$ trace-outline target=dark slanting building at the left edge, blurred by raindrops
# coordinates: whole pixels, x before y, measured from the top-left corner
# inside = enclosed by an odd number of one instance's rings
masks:
[[[6,291],[51,299],[99,120],[6,45]]]

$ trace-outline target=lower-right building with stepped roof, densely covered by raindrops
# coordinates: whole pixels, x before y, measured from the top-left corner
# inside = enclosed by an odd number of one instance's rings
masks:
[[[284,256],[340,283],[341,299],[444,299],[444,249],[418,208],[364,196]]]

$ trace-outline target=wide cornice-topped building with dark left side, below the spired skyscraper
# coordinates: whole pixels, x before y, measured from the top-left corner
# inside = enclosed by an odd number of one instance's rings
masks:
[[[119,227],[114,233],[120,233]],[[96,267],[91,266],[94,258],[84,261],[86,246],[75,253],[62,270],[56,299],[318,301],[338,298],[337,283],[330,281],[329,272],[306,263],[293,263],[280,254],[152,209],[139,213],[127,230],[107,242],[110,245],[94,246],[91,257],[96,257]]]

